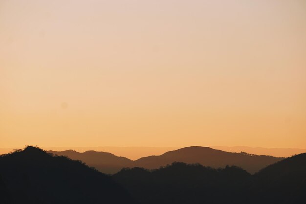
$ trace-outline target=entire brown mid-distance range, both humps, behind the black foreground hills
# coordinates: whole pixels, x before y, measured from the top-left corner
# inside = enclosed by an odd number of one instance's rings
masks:
[[[214,168],[225,167],[226,165],[239,166],[250,173],[255,173],[263,167],[280,161],[284,158],[271,156],[257,156],[246,153],[230,153],[215,150],[209,147],[185,147],[178,150],[166,152],[160,156],[149,156],[137,160],[130,160],[117,157],[110,153],[87,151],[79,153],[73,150],[68,151],[48,151],[60,156],[67,156],[70,159],[78,159],[88,166],[95,167],[103,173],[113,174],[124,167],[143,167],[156,169],[173,162],[199,163],[204,166]]]

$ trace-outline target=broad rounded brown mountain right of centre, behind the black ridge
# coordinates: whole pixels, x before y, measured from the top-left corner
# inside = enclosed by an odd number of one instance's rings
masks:
[[[166,152],[160,156],[140,158],[134,162],[134,166],[154,169],[171,164],[175,161],[181,161],[184,163],[200,163],[204,166],[211,166],[214,168],[235,165],[250,173],[255,173],[267,165],[282,159],[284,158],[250,155],[246,153],[230,153],[215,150],[210,147],[194,146]]]

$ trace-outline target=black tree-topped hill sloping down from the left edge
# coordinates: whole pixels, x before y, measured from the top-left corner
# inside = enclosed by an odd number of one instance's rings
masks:
[[[36,147],[0,157],[1,204],[134,204],[109,176]]]

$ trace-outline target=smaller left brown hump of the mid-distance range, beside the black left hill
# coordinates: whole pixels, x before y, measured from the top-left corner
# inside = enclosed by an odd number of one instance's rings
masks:
[[[47,151],[48,153],[67,156],[70,159],[81,160],[88,166],[95,167],[100,172],[113,174],[120,171],[123,167],[132,166],[132,160],[125,157],[117,157],[108,152],[86,151],[84,153],[73,150],[66,151]]]

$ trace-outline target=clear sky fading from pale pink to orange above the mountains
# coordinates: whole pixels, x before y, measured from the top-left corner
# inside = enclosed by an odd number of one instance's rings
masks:
[[[306,148],[305,0],[0,0],[0,147]]]

